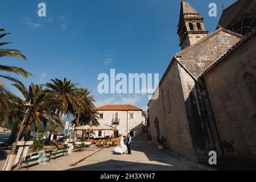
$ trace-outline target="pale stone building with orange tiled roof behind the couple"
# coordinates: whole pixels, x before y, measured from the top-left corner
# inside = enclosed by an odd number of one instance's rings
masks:
[[[119,134],[131,134],[135,140],[142,134],[146,126],[146,117],[142,109],[132,105],[105,105],[97,108],[100,118],[99,128],[109,127],[112,130],[95,130],[97,138],[106,136],[118,137]]]

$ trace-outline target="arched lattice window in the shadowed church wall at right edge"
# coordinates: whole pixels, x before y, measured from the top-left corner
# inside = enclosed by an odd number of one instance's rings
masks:
[[[245,81],[246,88],[250,93],[254,106],[256,107],[256,78],[252,73],[246,72],[245,75],[243,75],[243,80]]]

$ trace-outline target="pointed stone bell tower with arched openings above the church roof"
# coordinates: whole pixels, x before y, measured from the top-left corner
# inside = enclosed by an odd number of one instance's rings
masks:
[[[204,27],[204,18],[185,0],[181,1],[178,28],[181,49],[192,46],[208,34]]]

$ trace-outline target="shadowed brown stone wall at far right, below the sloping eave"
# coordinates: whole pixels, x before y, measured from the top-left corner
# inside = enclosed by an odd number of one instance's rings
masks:
[[[250,72],[256,88],[256,36],[204,75],[221,140],[235,154],[256,159],[256,106],[243,76]],[[254,93],[255,96],[255,93]],[[228,154],[228,153],[226,153]]]

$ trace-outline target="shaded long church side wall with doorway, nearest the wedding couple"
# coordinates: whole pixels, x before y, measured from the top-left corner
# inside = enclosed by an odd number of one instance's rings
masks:
[[[159,85],[158,100],[151,100],[148,104],[150,120],[148,130],[154,144],[157,144],[158,135],[160,138],[164,137],[167,139],[168,150],[198,162],[188,126],[179,66],[177,61],[172,61],[166,76]]]

